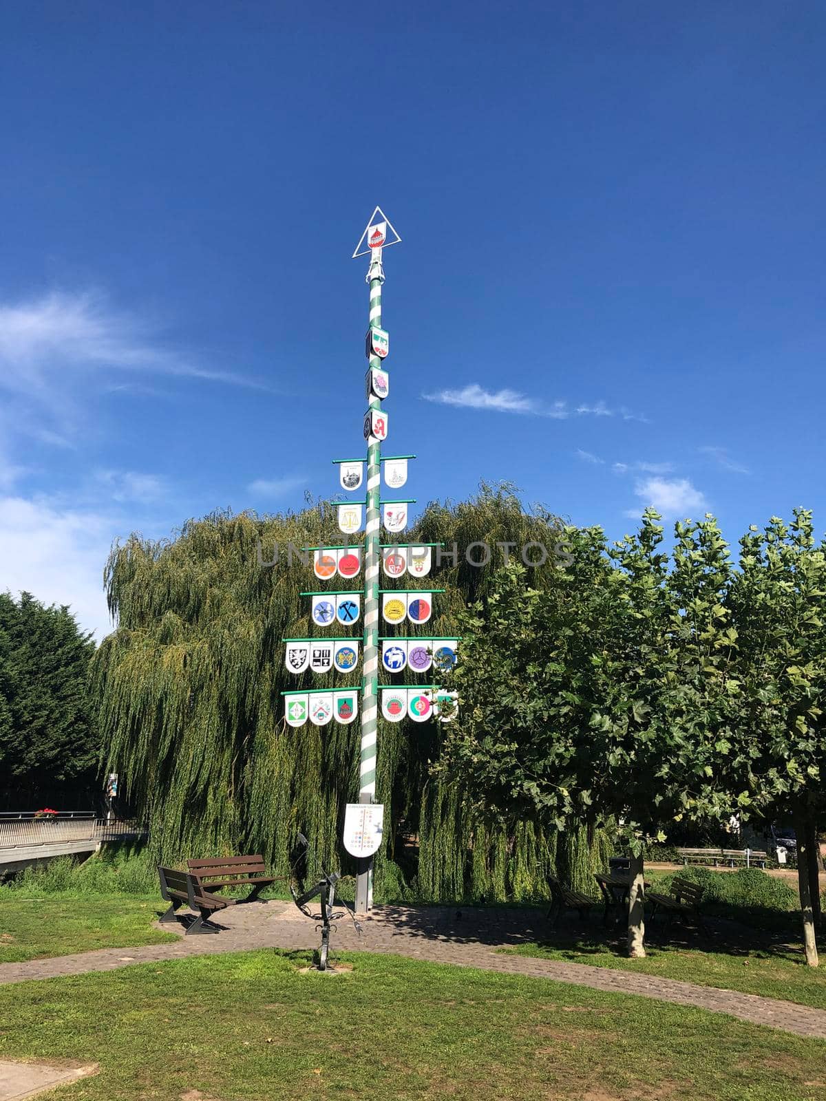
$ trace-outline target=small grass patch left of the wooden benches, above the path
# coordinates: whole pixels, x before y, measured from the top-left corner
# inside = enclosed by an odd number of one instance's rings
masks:
[[[0,963],[176,940],[152,928],[160,898],[0,897]]]

